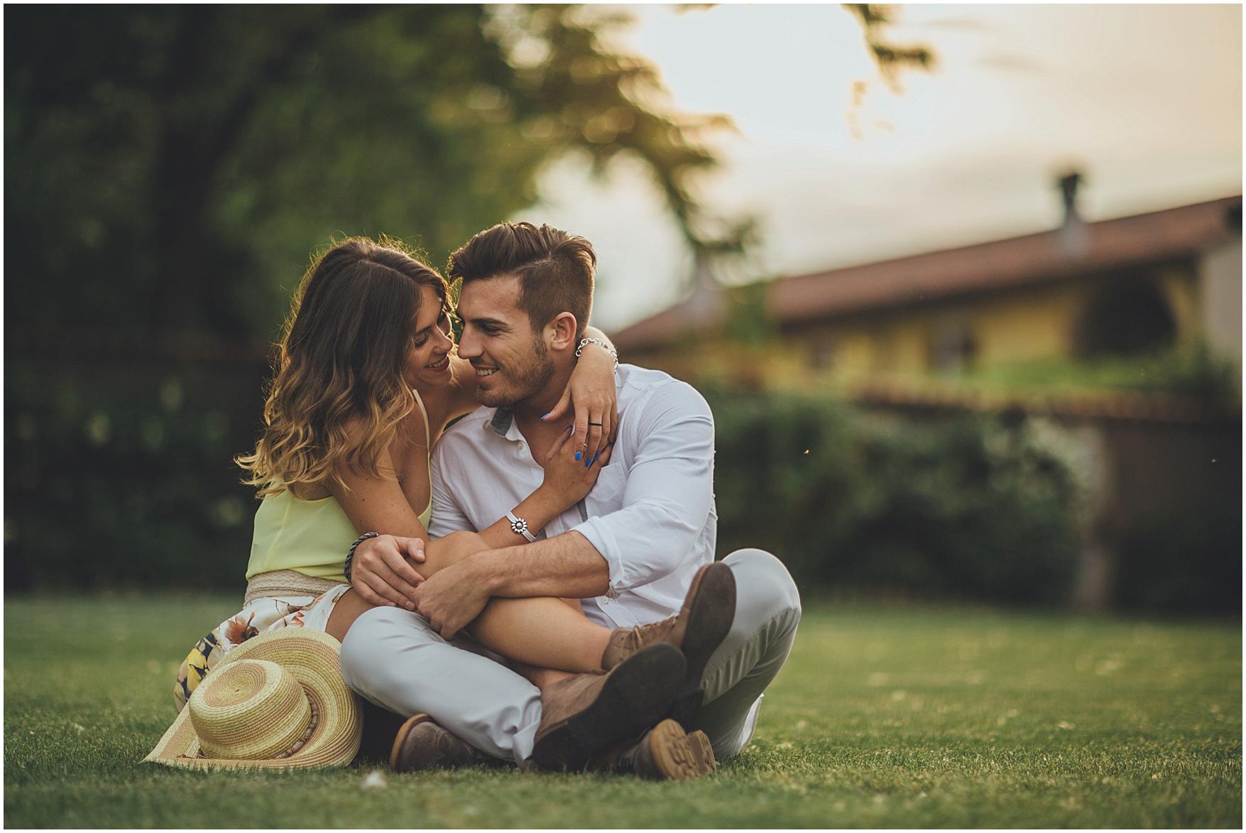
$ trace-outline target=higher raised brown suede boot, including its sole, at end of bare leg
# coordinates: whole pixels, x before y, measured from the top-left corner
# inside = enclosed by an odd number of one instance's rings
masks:
[[[692,587],[677,616],[632,628],[617,628],[602,653],[602,667],[613,668],[648,645],[669,642],[683,651],[688,676],[673,716],[692,728],[700,711],[704,692],[701,677],[710,655],[723,643],[735,619],[735,576],[718,561],[706,564],[693,576]]]

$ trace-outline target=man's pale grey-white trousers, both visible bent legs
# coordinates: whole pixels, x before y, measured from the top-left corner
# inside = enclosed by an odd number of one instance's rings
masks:
[[[787,569],[763,550],[723,559],[735,576],[735,619],[705,666],[698,717],[726,759],[753,737],[758,706],[796,637],[800,595]],[[419,614],[375,607],[351,625],[341,672],[356,693],[402,716],[425,712],[493,757],[526,766],[541,725],[541,692],[470,638],[446,641]]]

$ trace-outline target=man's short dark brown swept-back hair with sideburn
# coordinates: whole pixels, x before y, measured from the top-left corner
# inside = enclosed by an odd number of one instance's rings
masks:
[[[584,337],[593,311],[593,271],[597,254],[583,237],[551,226],[498,223],[450,256],[451,281],[483,281],[515,276],[520,279],[520,309],[532,329],[562,312],[576,317],[577,340]]]

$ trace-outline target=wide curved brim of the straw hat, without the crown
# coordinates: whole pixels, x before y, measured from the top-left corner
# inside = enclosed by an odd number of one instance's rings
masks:
[[[229,651],[199,683],[231,662],[269,660],[303,686],[316,715],[316,726],[297,752],[284,758],[235,759],[201,756],[189,707],[168,727],[145,762],[188,769],[304,769],[344,767],[359,752],[363,721],[355,695],[341,678],[341,643],[323,631],[283,628],[253,636]]]

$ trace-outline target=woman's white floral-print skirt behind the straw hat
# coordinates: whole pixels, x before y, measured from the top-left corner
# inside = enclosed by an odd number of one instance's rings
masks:
[[[279,596],[252,599],[242,611],[212,628],[194,643],[182,662],[173,685],[173,702],[182,711],[199,682],[233,647],[253,636],[282,627],[312,627],[323,631],[329,624],[333,606],[350,585],[339,584],[319,596]]]

